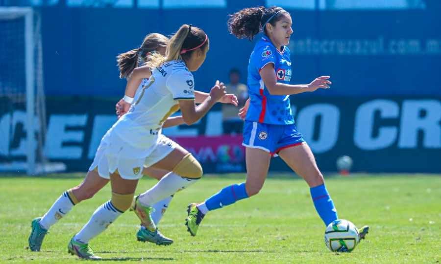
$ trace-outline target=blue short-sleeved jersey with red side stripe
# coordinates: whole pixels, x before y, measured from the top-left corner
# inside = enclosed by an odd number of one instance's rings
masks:
[[[259,74],[264,66],[272,63],[277,82],[289,84],[290,53],[286,46],[280,52],[265,35],[257,42],[248,62],[250,105],[245,120],[274,125],[294,124],[289,95],[271,95]]]

